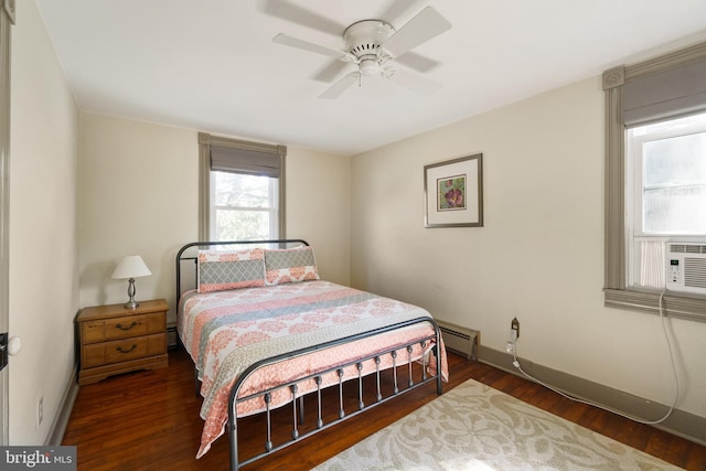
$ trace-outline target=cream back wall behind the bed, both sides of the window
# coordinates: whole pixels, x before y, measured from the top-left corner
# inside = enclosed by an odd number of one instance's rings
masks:
[[[81,306],[127,300],[110,275],[139,254],[152,271],[140,299],[165,298],[174,319],[174,256],[199,234],[199,146],[193,129],[81,115]],[[314,247],[321,275],[349,281],[349,159],[288,148],[287,232]]]

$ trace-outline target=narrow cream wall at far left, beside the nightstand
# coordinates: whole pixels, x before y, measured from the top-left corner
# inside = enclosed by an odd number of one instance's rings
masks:
[[[43,445],[75,366],[78,113],[33,1],[17,2],[11,100],[10,445]]]

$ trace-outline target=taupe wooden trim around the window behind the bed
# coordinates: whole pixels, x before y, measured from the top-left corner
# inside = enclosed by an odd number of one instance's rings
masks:
[[[257,151],[272,153],[279,157],[279,176],[277,178],[278,197],[278,235],[277,238],[286,238],[286,197],[285,197],[285,156],[286,146],[250,142],[238,139],[212,136],[205,132],[199,133],[199,239],[211,240],[212,225],[212,171],[211,171],[211,146],[231,147],[246,151]]]

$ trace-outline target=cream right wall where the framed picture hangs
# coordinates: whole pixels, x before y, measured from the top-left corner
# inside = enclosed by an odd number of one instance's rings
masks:
[[[424,165],[483,153],[484,227],[424,228]],[[353,158],[351,281],[478,329],[504,351],[661,404],[673,382],[660,320],[603,308],[599,77]],[[706,324],[670,321],[678,408],[706,417]]]

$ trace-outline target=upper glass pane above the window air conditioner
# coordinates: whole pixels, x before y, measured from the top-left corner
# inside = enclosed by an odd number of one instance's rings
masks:
[[[643,146],[645,234],[706,234],[706,132]]]

